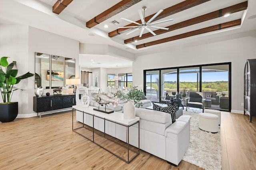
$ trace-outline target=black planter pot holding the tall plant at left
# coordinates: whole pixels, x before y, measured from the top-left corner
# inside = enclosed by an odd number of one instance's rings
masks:
[[[0,104],[0,122],[13,121],[18,115],[18,102]]]

